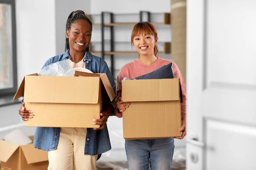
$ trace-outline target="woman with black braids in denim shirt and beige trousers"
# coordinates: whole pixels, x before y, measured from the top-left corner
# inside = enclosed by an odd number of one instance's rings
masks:
[[[73,68],[87,68],[93,73],[105,73],[116,91],[116,85],[107,63],[100,57],[92,55],[89,44],[92,35],[92,23],[84,11],[73,11],[67,18],[65,52],[48,59],[43,68],[52,63],[70,59]],[[84,85],[86,91],[86,85]],[[99,128],[37,127],[34,147],[48,151],[48,170],[95,170],[96,160],[102,153],[111,149],[106,122],[113,105],[105,104],[101,119],[92,123]],[[19,114],[24,121],[34,115],[22,105]],[[70,115],[72,116],[72,115]]]

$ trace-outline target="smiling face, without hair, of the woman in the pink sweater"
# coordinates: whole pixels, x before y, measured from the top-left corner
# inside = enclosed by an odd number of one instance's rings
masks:
[[[154,55],[154,46],[157,44],[157,40],[154,35],[142,33],[134,37],[133,44],[140,55]]]

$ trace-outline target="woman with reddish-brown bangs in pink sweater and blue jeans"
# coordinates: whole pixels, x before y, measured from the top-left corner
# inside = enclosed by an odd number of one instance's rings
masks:
[[[186,135],[186,86],[177,65],[169,60],[157,57],[157,31],[151,23],[137,23],[131,34],[131,44],[134,45],[139,58],[124,65],[117,76],[116,88],[116,116],[122,117],[122,112],[129,107],[129,102],[122,102],[121,80],[125,77],[134,79],[144,74],[151,73],[164,65],[172,63],[174,77],[180,79],[183,102],[181,103],[182,132],[183,139]],[[174,138],[125,140],[125,150],[128,159],[129,170],[170,170],[174,151]]]

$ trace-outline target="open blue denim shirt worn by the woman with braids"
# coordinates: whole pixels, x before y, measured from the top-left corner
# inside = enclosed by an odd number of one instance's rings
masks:
[[[54,62],[62,61],[64,59],[70,59],[69,50],[63,54],[52,57],[45,62],[43,68]],[[112,85],[113,90],[116,92],[116,84],[113,76],[108,68],[107,63],[100,57],[96,57],[87,51],[84,59],[85,68],[89,69],[93,73],[105,73]],[[86,91],[86,85],[84,85]],[[40,150],[50,151],[55,150],[58,145],[60,137],[60,127],[37,127],[35,130],[35,138],[33,146]],[[87,135],[85,138],[85,155],[99,155],[111,150],[111,144],[108,134],[107,125],[102,130],[93,130],[93,128],[87,128]]]

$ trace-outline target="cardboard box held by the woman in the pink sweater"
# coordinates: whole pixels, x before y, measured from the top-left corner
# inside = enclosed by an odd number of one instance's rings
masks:
[[[181,136],[180,79],[122,81],[122,100],[131,105],[123,113],[125,139]]]

